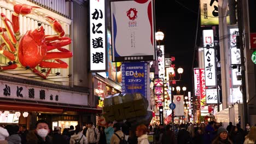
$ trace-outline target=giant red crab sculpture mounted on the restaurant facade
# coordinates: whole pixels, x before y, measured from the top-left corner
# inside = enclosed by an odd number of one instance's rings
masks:
[[[44,28],[41,26],[41,23],[38,23],[36,29],[27,31],[21,36],[19,15],[31,14],[34,8],[39,7],[33,7],[27,4],[14,5],[11,21],[3,13],[1,14],[1,20],[5,28],[0,27],[0,36],[4,41],[0,45],[0,53],[10,59],[10,62],[8,63],[9,65],[0,66],[0,69],[9,70],[22,67],[31,69],[33,73],[46,79],[52,68],[68,67],[68,64],[60,59],[72,57],[72,52],[62,48],[62,46],[71,44],[71,39],[63,37],[65,32],[60,23],[50,16],[45,16],[45,19],[50,23],[57,35],[45,35]],[[11,29],[9,23],[11,23],[13,29]],[[7,46],[8,50],[4,49],[4,46]],[[59,50],[59,52],[49,52],[54,49]],[[48,62],[46,60],[54,60],[54,62]],[[44,75],[36,69],[37,66],[49,69]]]

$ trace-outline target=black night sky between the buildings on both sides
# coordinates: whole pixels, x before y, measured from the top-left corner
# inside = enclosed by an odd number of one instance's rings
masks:
[[[186,86],[191,92],[198,8],[199,0],[155,0],[156,32],[160,29],[165,34],[161,44],[165,45],[165,53],[170,53],[176,58],[174,62],[176,70],[179,67],[184,69],[182,81],[177,82],[177,85]],[[196,13],[193,13],[192,10]],[[176,76],[176,78],[179,77]]]

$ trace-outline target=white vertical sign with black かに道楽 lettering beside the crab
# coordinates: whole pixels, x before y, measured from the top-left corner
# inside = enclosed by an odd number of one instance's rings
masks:
[[[90,0],[90,70],[107,70],[104,1]]]

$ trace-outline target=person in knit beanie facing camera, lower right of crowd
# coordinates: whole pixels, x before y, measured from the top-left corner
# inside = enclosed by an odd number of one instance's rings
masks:
[[[233,144],[229,139],[228,130],[223,127],[218,128],[216,139],[213,140],[212,144]]]

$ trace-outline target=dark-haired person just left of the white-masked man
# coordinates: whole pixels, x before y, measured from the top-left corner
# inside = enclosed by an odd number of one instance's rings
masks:
[[[18,125],[6,125],[4,128],[7,129],[9,133],[9,136],[6,139],[8,144],[21,144],[21,137],[18,134]]]

